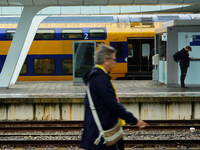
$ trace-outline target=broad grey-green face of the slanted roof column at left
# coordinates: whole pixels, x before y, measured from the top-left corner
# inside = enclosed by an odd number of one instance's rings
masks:
[[[13,41],[11,43],[4,66],[2,68],[2,72],[0,74],[0,88],[8,88],[8,86],[10,85],[11,78],[14,75],[16,66],[17,65],[19,66],[19,64],[21,64],[21,63],[18,64],[20,57],[22,58],[22,56],[25,55],[26,52],[24,51],[28,51],[26,50],[27,49],[26,46],[30,45],[30,43],[32,42],[30,40],[30,35],[29,38],[26,40],[28,34],[31,33],[31,31],[29,33],[29,30],[32,25],[32,20],[35,14],[45,7],[47,6],[24,6]],[[25,60],[26,56],[23,58]],[[20,61],[24,62],[24,60]]]

